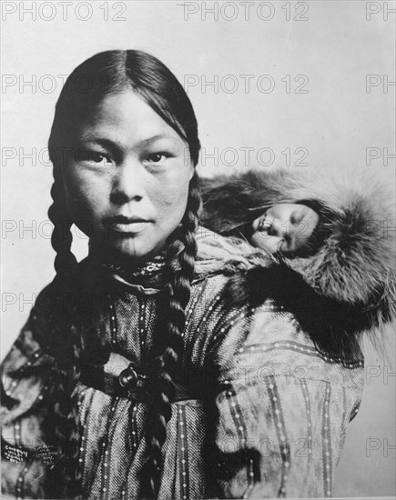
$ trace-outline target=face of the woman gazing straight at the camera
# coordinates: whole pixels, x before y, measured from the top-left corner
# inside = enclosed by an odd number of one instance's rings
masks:
[[[180,223],[188,145],[136,93],[107,95],[79,124],[63,168],[66,203],[97,251],[145,261]]]

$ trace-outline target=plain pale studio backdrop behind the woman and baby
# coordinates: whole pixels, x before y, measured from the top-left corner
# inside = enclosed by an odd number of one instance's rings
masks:
[[[46,141],[63,81],[96,52],[157,55],[185,85],[200,173],[369,166],[393,186],[394,2],[2,2],[3,355],[54,275]],[[393,82],[393,84],[392,84]],[[393,228],[394,231],[394,228]],[[75,232],[74,250],[86,253]],[[394,365],[372,350],[336,495],[395,494]]]

